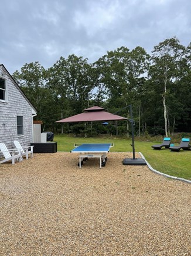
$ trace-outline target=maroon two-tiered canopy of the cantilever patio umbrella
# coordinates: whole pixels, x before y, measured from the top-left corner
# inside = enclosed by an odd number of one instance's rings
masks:
[[[94,106],[84,109],[84,112],[72,117],[67,117],[56,122],[91,122],[91,121],[111,121],[111,120],[125,120],[127,118],[120,117],[120,115],[114,115],[104,108]]]

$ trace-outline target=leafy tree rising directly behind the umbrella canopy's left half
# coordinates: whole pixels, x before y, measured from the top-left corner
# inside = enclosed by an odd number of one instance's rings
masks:
[[[94,87],[91,81],[91,65],[87,63],[87,59],[74,54],[67,59],[60,57],[47,72],[47,85],[60,105],[61,118],[79,114],[88,107]]]

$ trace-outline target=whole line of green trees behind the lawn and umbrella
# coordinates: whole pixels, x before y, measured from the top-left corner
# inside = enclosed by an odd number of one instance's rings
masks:
[[[39,62],[25,64],[13,78],[37,109],[45,131],[94,135],[129,135],[128,122],[57,124],[55,121],[98,105],[129,118],[132,105],[135,134],[189,132],[191,125],[191,43],[165,39],[151,54],[137,46],[121,46],[90,64],[87,58],[69,55],[48,69]],[[117,128],[116,128],[117,127]]]

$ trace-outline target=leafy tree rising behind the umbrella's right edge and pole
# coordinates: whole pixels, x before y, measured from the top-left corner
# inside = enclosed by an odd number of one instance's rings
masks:
[[[149,55],[139,46],[132,51],[122,46],[108,52],[104,58],[107,67],[104,83],[108,91],[108,106],[114,109],[114,112],[119,106],[124,107],[128,118],[127,106],[135,105],[135,102],[139,102],[139,107],[141,105],[141,91],[144,91],[144,76],[149,65]],[[127,136],[128,130],[127,123]]]

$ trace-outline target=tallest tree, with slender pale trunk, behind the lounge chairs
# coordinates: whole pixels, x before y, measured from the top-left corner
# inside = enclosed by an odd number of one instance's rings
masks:
[[[185,47],[180,45],[178,38],[166,39],[154,46],[154,51],[152,51],[152,66],[149,75],[162,96],[166,137],[170,134],[170,114],[172,114],[168,99],[170,94],[172,97],[172,88],[181,77],[184,51]]]

